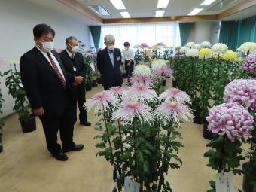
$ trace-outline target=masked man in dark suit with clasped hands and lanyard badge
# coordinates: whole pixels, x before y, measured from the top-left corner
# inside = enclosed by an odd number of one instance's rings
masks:
[[[85,75],[86,64],[84,62],[84,56],[78,52],[79,45],[78,39],[75,37],[66,38],[66,50],[63,50],[59,54],[60,59],[66,69],[66,75],[69,83],[72,84],[75,100],[78,102],[78,108],[80,111],[79,119],[80,124],[84,126],[90,126],[91,123],[87,120],[87,111],[83,107],[85,102]],[[75,102],[75,108],[77,105]],[[76,117],[76,110],[75,110]]]

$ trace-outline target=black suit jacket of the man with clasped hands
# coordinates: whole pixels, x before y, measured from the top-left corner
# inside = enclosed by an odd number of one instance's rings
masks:
[[[69,79],[70,84],[75,81],[75,76],[82,76],[85,80],[86,63],[84,61],[84,56],[82,55],[82,53],[75,53],[75,63],[69,57],[69,54],[66,50],[63,50],[61,53],[59,53],[59,57],[60,59],[62,59],[62,63],[66,70],[66,75]],[[76,68],[76,71],[74,71],[74,67]],[[81,91],[85,90],[85,81],[78,85],[78,89]]]

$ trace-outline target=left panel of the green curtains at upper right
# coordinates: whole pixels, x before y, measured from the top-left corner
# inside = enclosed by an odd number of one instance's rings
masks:
[[[219,42],[227,44],[230,50],[236,50],[238,35],[239,34],[239,22],[236,21],[222,21]]]

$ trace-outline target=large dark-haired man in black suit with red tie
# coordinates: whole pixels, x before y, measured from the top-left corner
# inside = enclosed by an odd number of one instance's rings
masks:
[[[75,98],[66,77],[61,59],[53,51],[54,30],[46,24],[33,29],[35,47],[20,58],[20,75],[32,111],[38,115],[44,128],[47,149],[57,160],[68,160],[65,152],[80,151],[84,145],[75,145]],[[57,143],[60,130],[62,148]]]

